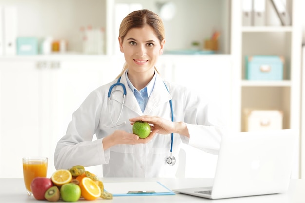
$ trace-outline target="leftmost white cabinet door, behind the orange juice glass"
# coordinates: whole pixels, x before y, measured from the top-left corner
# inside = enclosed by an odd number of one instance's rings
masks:
[[[0,178],[23,177],[22,157],[45,155],[40,80],[34,62],[0,62]]]

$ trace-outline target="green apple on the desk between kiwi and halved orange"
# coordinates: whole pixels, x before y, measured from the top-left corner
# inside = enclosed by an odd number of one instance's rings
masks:
[[[67,183],[61,186],[60,194],[63,201],[76,202],[80,198],[81,190],[79,185]]]

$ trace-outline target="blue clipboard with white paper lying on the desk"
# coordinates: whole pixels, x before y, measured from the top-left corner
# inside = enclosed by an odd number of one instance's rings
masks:
[[[175,193],[160,182],[115,182],[103,183],[112,196],[150,196],[175,195]]]

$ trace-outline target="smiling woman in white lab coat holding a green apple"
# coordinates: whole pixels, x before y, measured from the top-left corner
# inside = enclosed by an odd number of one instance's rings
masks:
[[[113,82],[91,92],[73,113],[66,135],[57,143],[55,167],[102,164],[104,177],[175,177],[182,142],[217,153],[222,128],[210,122],[206,101],[185,87],[163,81],[155,68],[165,44],[161,18],[146,9],[130,13],[120,25],[118,40],[125,67]],[[107,101],[111,85],[117,82],[126,87],[123,108],[120,85],[114,86]],[[132,133],[131,124],[137,120],[151,125],[145,139]],[[175,165],[166,161],[171,133]],[[94,134],[97,140],[92,141]]]

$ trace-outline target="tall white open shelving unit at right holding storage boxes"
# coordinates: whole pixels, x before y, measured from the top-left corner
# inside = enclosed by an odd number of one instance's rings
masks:
[[[300,134],[301,74],[301,0],[287,0],[292,25],[281,26],[279,20],[266,26],[242,26],[241,0],[232,0],[231,55],[234,61],[235,129],[244,131],[243,110],[278,109],[283,112],[283,128]],[[276,15],[266,0],[266,18]],[[246,55],[282,55],[285,57],[283,81],[249,81],[245,79]],[[299,147],[293,176],[300,177]]]

